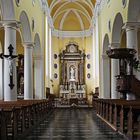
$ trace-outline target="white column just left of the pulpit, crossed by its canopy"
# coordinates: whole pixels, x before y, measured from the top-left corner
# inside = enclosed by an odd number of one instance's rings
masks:
[[[119,48],[119,43],[112,43],[111,47]],[[111,98],[118,99],[120,98],[119,93],[116,90],[117,80],[116,77],[119,74],[119,59],[111,59]]]

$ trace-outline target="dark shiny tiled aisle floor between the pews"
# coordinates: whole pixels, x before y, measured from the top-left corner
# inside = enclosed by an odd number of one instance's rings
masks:
[[[123,140],[92,109],[56,109],[25,140]]]

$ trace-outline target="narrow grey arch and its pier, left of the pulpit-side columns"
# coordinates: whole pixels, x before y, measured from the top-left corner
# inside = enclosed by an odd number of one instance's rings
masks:
[[[101,92],[103,98],[110,98],[110,60],[106,55],[106,51],[109,49],[109,37],[106,34],[103,41],[103,52],[102,52],[102,60],[101,60]]]

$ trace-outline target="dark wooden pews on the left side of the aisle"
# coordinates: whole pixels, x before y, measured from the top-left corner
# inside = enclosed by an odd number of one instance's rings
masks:
[[[54,108],[51,100],[0,101],[0,140],[24,137]]]

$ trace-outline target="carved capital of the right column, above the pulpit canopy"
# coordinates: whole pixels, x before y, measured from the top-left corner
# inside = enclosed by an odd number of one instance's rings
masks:
[[[140,22],[126,22],[122,28],[126,31],[137,30],[138,28],[140,28]]]

